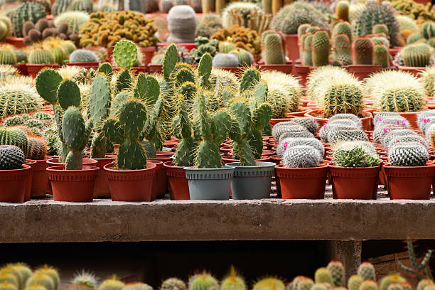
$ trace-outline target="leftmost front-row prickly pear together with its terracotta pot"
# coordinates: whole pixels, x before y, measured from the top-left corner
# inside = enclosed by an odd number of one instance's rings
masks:
[[[96,166],[83,166],[82,151],[89,141],[92,122],[82,117],[80,89],[73,80],[64,80],[58,87],[58,104],[62,116],[63,146],[68,149],[65,165],[47,168],[53,198],[56,201],[89,202],[93,199]]]

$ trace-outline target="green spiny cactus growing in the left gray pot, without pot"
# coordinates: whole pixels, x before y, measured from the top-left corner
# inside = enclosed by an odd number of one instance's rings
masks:
[[[227,138],[230,132],[231,117],[225,110],[215,112],[213,116],[207,110],[207,102],[203,92],[198,92],[193,104],[195,120],[198,124],[200,145],[195,156],[197,168],[220,168],[222,157],[219,145]]]

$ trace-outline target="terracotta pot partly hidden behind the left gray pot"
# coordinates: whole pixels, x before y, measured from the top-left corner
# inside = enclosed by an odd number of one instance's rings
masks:
[[[173,161],[163,163],[168,177],[171,200],[190,200],[189,183],[183,166],[173,166]]]

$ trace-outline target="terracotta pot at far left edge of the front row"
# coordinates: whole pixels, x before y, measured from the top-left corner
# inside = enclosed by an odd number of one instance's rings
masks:
[[[28,186],[31,166],[23,164],[21,169],[0,171],[0,202],[23,203]]]

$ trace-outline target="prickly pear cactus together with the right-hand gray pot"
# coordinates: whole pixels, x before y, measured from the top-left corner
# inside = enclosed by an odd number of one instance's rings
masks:
[[[272,108],[265,103],[267,84],[247,81],[252,78],[252,70],[242,77],[240,90],[244,95],[250,93],[246,102],[235,101],[230,105],[232,124],[230,138],[234,141],[233,153],[239,162],[226,163],[225,167],[234,168],[231,181],[233,199],[269,198],[275,163],[255,161],[262,155],[262,130],[269,124]],[[249,104],[249,107],[247,105]]]

